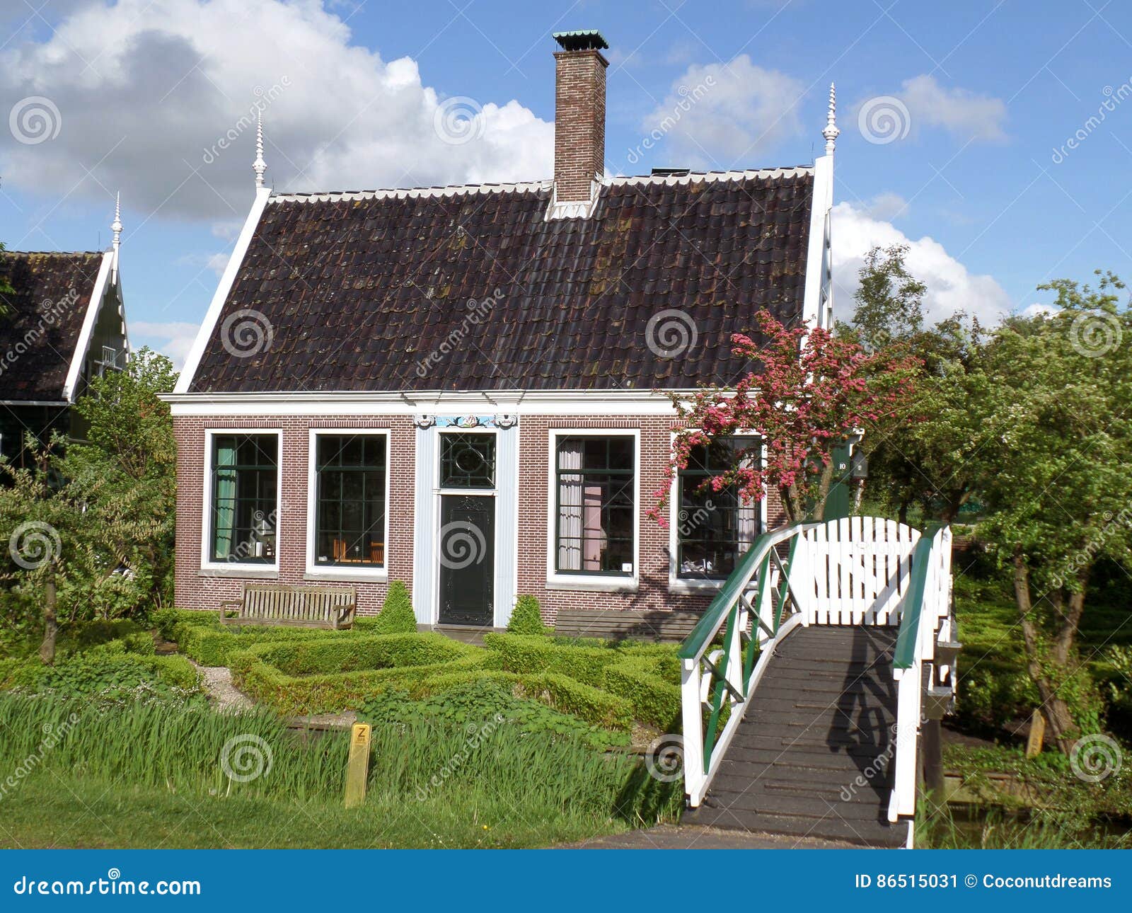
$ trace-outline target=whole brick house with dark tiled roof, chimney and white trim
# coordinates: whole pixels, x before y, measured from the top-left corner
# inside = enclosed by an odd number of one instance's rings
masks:
[[[404,581],[422,625],[693,609],[773,497],[646,517],[669,393],[751,368],[732,333],[829,325],[832,101],[812,165],[604,172],[607,48],[555,36],[552,180],[256,200],[177,391],[177,604],[249,581]],[[831,94],[832,99],[832,94]]]

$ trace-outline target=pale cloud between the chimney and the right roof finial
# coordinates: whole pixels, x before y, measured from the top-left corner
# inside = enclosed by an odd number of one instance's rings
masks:
[[[801,131],[797,103],[804,92],[792,76],[739,54],[730,63],[688,67],[641,127],[644,137],[667,143],[674,167],[758,163],[766,151]]]

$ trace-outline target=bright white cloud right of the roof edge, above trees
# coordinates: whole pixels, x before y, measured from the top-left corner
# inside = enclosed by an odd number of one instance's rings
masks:
[[[1013,302],[993,276],[975,275],[952,257],[938,241],[925,236],[911,239],[900,229],[849,203],[833,207],[833,282],[838,317],[848,321],[857,273],[876,246],[907,245],[904,265],[927,285],[924,299],[929,322],[963,310],[985,323],[1010,313]]]

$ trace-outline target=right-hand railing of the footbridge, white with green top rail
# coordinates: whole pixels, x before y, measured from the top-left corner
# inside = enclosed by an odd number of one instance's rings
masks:
[[[925,534],[911,556],[908,596],[892,659],[897,681],[895,751],[889,820],[916,813],[916,771],[924,720],[925,664],[935,662],[937,640],[951,634],[951,528]],[[945,676],[954,688],[951,671]]]

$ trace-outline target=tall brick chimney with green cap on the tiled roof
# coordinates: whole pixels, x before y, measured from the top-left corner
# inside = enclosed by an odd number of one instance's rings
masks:
[[[589,203],[606,171],[606,67],[600,32],[556,32],[555,198]]]

